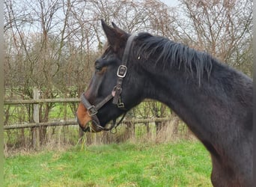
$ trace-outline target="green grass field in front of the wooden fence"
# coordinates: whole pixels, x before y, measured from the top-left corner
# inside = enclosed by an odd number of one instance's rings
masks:
[[[197,141],[109,144],[5,159],[4,186],[211,186]]]

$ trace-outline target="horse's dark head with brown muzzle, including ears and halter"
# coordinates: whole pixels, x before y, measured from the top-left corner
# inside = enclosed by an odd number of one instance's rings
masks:
[[[87,91],[82,93],[76,111],[79,126],[85,132],[108,130],[106,124],[110,120],[141,102],[143,77],[136,70],[136,59],[132,56],[136,36],[121,30],[115,23],[112,25],[102,20],[107,48],[94,63],[94,76]]]

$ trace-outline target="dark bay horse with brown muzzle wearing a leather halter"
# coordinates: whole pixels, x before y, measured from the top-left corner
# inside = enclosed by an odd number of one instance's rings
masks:
[[[84,131],[150,98],[163,102],[209,150],[213,186],[252,186],[252,79],[165,37],[128,34],[102,21],[108,47],[77,109]],[[88,122],[91,125],[88,125]]]

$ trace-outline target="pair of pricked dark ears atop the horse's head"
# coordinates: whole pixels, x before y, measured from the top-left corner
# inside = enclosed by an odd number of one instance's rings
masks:
[[[106,34],[109,45],[112,46],[115,51],[117,51],[117,49],[121,46],[125,45],[125,42],[129,37],[125,31],[121,30],[121,28],[118,28],[115,23],[114,25],[112,23],[114,28],[110,27],[106,24],[106,22],[103,21],[103,19],[101,19],[101,25],[103,26],[103,31]]]

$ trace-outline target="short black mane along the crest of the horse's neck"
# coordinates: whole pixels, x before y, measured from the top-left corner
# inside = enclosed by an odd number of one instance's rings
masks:
[[[207,73],[208,78],[210,77],[213,63],[217,61],[207,52],[196,51],[165,37],[140,33],[136,41],[140,44],[138,49],[135,50],[135,55],[142,57],[142,61],[148,61],[152,58],[155,65],[162,63],[163,69],[177,67],[180,70],[181,67],[184,67],[185,73],[190,73],[192,77],[194,73],[196,74],[199,85],[204,73]]]

